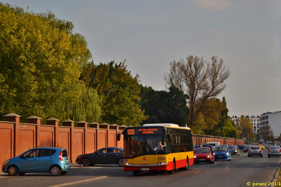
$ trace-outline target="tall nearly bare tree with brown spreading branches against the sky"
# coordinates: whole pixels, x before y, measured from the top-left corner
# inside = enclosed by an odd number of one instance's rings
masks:
[[[170,62],[170,72],[164,75],[166,88],[175,86],[189,96],[190,115],[188,127],[200,125],[198,118],[202,115],[210,98],[217,97],[226,89],[225,80],[230,70],[223,59],[212,56],[211,62],[203,57],[189,55],[186,62],[180,59]]]

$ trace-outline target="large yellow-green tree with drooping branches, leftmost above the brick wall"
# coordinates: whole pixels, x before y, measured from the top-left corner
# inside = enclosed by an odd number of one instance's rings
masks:
[[[23,120],[31,115],[86,120],[85,113],[94,112],[89,120],[99,117],[96,92],[83,91],[79,82],[91,53],[73,28],[52,12],[34,14],[0,3],[0,116],[13,112]],[[77,111],[65,104],[77,101],[80,107],[72,105]]]

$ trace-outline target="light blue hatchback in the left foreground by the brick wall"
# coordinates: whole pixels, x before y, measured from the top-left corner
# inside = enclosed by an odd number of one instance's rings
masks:
[[[11,176],[26,173],[50,173],[58,176],[67,174],[68,170],[70,164],[67,150],[57,147],[33,148],[2,165],[2,172]]]

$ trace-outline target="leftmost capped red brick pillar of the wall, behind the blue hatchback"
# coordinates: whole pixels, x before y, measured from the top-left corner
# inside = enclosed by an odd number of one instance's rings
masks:
[[[21,154],[20,150],[19,150],[19,146],[17,146],[17,145],[20,145],[19,122],[20,122],[21,116],[14,114],[14,113],[9,113],[3,117],[6,122],[15,122],[15,124],[14,124],[14,145],[13,145],[14,155],[13,156],[16,157]]]

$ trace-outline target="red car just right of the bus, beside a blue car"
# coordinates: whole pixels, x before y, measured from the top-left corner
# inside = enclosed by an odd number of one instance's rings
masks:
[[[194,163],[214,163],[214,152],[209,147],[197,148],[194,152]]]

